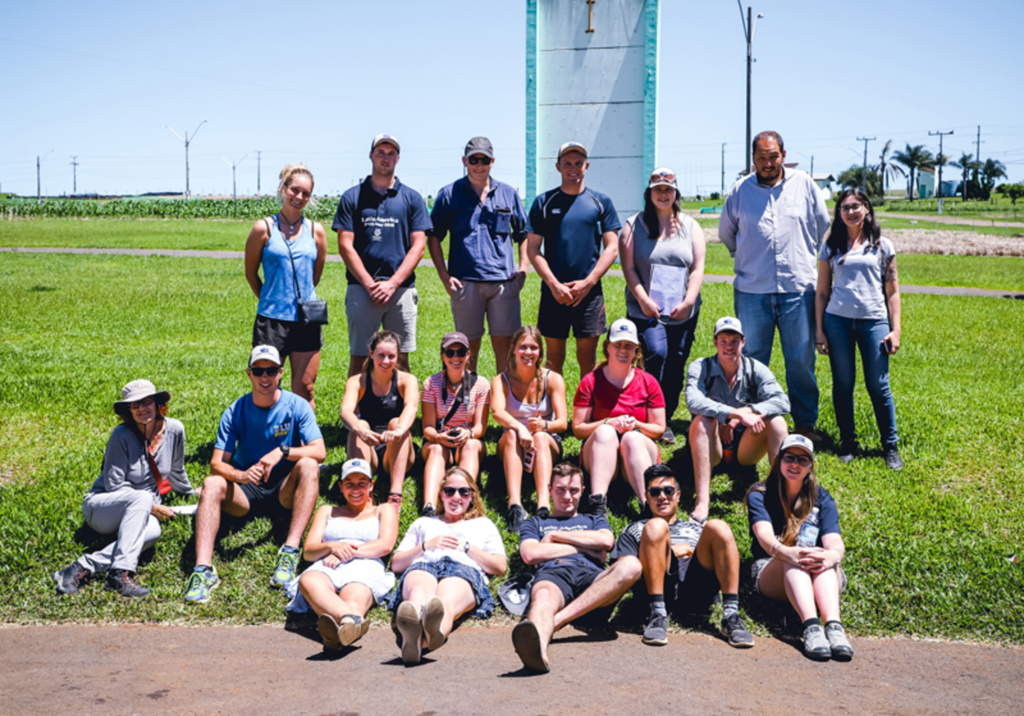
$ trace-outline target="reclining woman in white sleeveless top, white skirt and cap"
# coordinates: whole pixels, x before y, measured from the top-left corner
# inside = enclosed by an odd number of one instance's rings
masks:
[[[316,561],[288,586],[292,601],[287,608],[312,607],[328,649],[349,646],[370,629],[367,612],[394,587],[394,575],[384,568],[383,557],[398,539],[397,512],[374,504],[369,462],[348,460],[338,489],[344,504],[316,510],[306,536],[303,556]]]

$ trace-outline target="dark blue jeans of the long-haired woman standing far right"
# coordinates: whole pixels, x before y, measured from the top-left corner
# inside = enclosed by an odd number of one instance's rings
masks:
[[[889,389],[889,353],[882,340],[889,334],[885,319],[863,321],[844,319],[825,313],[825,338],[828,339],[828,363],[833,370],[833,405],[840,437],[847,443],[857,438],[853,424],[853,386],[857,379],[857,357],[853,347],[860,349],[864,364],[864,384],[874,408],[874,420],[882,435],[882,447],[896,445],[896,404]]]

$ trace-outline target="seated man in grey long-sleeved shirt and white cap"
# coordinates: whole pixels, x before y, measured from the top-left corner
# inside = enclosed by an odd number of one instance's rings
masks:
[[[743,326],[730,315],[715,324],[716,355],[686,372],[686,408],[697,501],[690,518],[703,522],[711,504],[711,470],[724,459],[756,465],[774,460],[790,432],[782,416],[790,398],[764,364],[742,354]],[[748,429],[749,428],[749,429]]]

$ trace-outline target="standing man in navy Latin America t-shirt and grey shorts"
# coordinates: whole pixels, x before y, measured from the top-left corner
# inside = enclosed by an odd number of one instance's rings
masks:
[[[409,370],[416,350],[416,264],[430,228],[427,205],[419,193],[394,175],[400,148],[390,134],[370,144],[373,173],[341,196],[332,227],[345,262],[348,289],[348,375],[359,372],[370,339],[381,326],[401,337],[399,367]]]

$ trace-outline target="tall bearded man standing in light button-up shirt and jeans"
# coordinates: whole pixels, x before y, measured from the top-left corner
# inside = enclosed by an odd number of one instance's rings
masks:
[[[778,327],[796,432],[816,440],[816,259],[830,217],[811,177],[783,167],[777,132],[761,132],[753,143],[756,172],[726,197],[718,236],[735,259],[733,302],[746,327],[743,352],[768,366]]]

